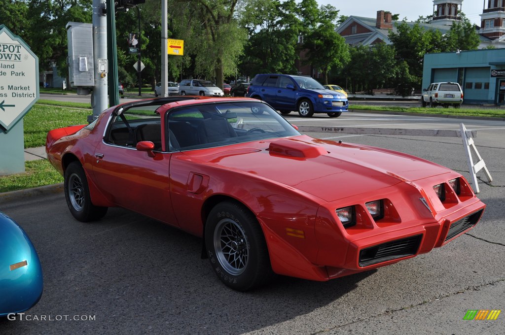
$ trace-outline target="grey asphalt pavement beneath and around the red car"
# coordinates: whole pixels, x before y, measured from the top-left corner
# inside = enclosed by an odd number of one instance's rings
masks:
[[[503,334],[505,122],[292,114],[287,119],[304,126],[457,130],[464,122],[478,131],[477,148],[493,177],[480,181],[478,196],[487,204],[482,220],[441,248],[378,270],[326,283],[281,276],[239,293],[200,259],[199,239],[160,222],[111,208],[103,220],[84,224],[73,219],[61,192],[0,197],[0,210],[26,230],[44,271],[42,299],[24,315],[30,320],[0,320],[0,333]],[[468,177],[460,138],[311,135],[408,152]],[[494,321],[464,320],[469,309],[502,314]]]

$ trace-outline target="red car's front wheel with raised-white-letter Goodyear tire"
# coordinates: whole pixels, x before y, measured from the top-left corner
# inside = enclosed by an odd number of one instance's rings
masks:
[[[209,213],[205,245],[219,279],[237,291],[266,284],[273,275],[258,220],[243,205],[224,201]]]

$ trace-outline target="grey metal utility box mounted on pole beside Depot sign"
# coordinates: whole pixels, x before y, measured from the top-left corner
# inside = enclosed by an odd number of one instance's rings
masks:
[[[95,85],[93,26],[90,23],[69,22],[66,28],[70,86],[77,87],[77,94],[86,95]]]

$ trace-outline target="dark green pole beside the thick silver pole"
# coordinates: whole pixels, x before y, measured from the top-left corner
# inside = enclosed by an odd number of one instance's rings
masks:
[[[107,0],[107,59],[109,60],[109,103],[119,104],[118,50],[116,49],[116,14],[114,0]]]

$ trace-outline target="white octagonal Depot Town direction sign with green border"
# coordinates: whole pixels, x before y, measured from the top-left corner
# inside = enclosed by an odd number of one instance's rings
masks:
[[[9,131],[39,98],[38,57],[0,25],[0,126]]]

